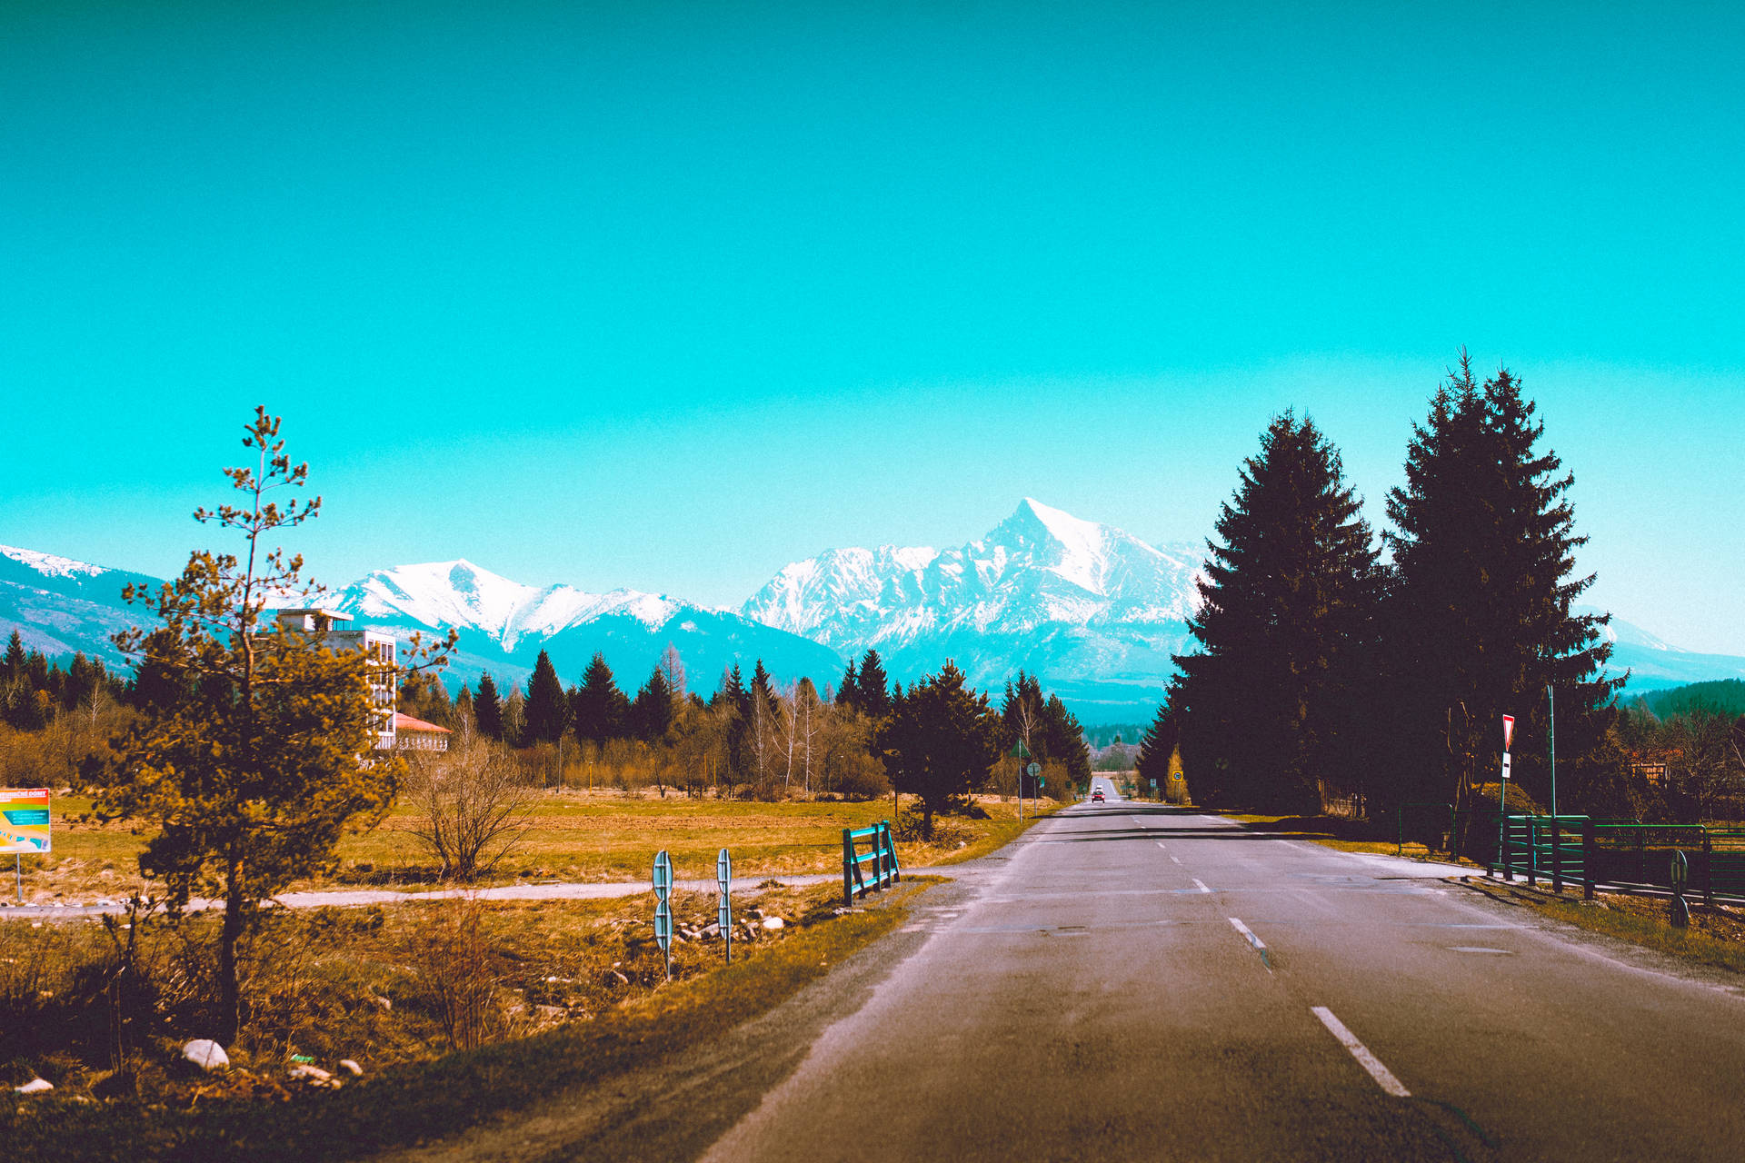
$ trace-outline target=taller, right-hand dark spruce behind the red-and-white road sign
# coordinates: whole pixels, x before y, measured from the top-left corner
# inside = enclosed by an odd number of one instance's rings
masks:
[[[1572,474],[1536,446],[1544,424],[1506,368],[1482,387],[1468,354],[1431,399],[1387,495],[1394,579],[1382,659],[1384,715],[1398,748],[1387,797],[1466,806],[1494,781],[1502,715],[1513,715],[1515,778],[1548,797],[1546,687],[1557,750],[1576,760],[1611,722],[1621,680],[1602,673],[1611,616],[1574,614],[1593,575],[1576,575]]]

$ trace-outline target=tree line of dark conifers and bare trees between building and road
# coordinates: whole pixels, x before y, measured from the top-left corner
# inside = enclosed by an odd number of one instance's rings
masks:
[[[483,673],[476,690],[462,685],[450,699],[421,673],[401,684],[400,710],[513,748],[530,776],[546,781],[586,772],[661,795],[675,788],[754,799],[914,793],[928,832],[934,814],[963,807],[974,792],[1017,793],[1016,748],[1052,771],[1063,795],[1091,771],[1078,720],[1037,677],[1019,671],[993,708],[949,661],[904,690],[878,650],[850,661],[822,690],[811,678],[777,684],[761,659],[749,678],[735,664],[707,699],[688,687],[672,645],[635,696],[600,654],[565,689],[541,650],[525,687],[504,690]],[[948,760],[948,738],[968,741],[967,750]],[[1023,790],[1038,792],[1035,781]]]

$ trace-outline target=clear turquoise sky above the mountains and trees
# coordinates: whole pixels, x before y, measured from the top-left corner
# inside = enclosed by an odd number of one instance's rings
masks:
[[[5,5],[0,542],[178,568],[255,403],[335,582],[1197,539],[1293,405],[1379,521],[1466,343],[1745,654],[1738,5],[1312,7]]]

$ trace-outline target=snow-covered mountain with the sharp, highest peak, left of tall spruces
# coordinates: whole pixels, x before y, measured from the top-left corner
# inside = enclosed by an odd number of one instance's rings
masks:
[[[876,649],[911,678],[951,657],[981,685],[1044,675],[1085,713],[1155,706],[1183,649],[1201,554],[1150,546],[1038,500],[961,549],[831,549],[745,603],[841,654]],[[1148,711],[1145,711],[1148,713]]]

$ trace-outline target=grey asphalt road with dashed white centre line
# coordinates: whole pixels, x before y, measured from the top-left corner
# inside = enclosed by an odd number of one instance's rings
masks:
[[[1724,975],[1452,872],[1082,804],[616,1105],[435,1158],[1745,1158]]]

